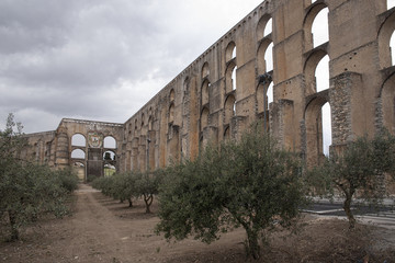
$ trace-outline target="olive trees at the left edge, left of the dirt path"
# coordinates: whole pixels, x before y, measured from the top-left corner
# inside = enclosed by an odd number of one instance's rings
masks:
[[[66,199],[78,184],[72,170],[54,171],[20,160],[25,146],[22,126],[10,114],[5,129],[0,130],[0,218],[7,217],[11,240],[18,240],[20,228],[43,214],[66,215]]]

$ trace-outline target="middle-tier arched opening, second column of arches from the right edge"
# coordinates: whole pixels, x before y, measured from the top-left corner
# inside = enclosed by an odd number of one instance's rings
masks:
[[[319,82],[319,89],[329,88],[329,67],[328,60],[329,57],[325,58],[327,54],[324,50],[316,50],[306,60],[304,67],[304,77],[305,77],[305,95],[311,95],[317,92],[317,82]],[[323,60],[323,61],[321,61]],[[321,61],[320,70],[317,70],[318,64]],[[323,68],[325,70],[323,70]]]

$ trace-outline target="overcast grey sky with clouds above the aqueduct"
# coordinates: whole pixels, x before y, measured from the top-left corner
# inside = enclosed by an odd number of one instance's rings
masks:
[[[1,0],[0,128],[124,123],[262,0]]]

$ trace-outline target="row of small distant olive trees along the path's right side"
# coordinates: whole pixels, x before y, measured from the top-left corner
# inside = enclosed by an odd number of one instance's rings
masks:
[[[94,188],[100,190],[104,195],[111,196],[121,202],[127,201],[133,206],[133,199],[143,196],[146,205],[146,213],[150,213],[150,205],[154,195],[158,193],[162,180],[162,170],[153,172],[125,172],[112,176],[98,178],[92,182]]]

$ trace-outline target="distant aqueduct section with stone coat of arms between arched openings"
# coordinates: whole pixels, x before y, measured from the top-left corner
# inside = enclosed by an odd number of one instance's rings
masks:
[[[122,139],[122,124],[64,118],[56,132],[54,165],[76,168],[83,181],[103,176],[104,165],[109,163],[103,155],[108,150],[113,151],[115,158],[111,163],[119,170],[116,156],[121,156],[121,149],[117,145]]]

